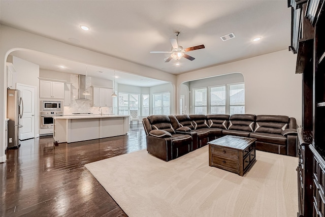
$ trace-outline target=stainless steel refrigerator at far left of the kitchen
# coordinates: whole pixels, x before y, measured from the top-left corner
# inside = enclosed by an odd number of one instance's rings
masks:
[[[19,128],[24,111],[20,90],[7,89],[8,148],[20,146]]]

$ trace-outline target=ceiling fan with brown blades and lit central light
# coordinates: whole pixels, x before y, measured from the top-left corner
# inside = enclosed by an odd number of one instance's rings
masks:
[[[198,46],[194,46],[194,47],[188,47],[183,49],[182,46],[178,45],[178,36],[179,36],[179,32],[176,32],[176,39],[170,39],[171,44],[172,44],[172,50],[171,51],[150,51],[150,53],[171,53],[170,57],[165,58],[165,63],[168,63],[170,60],[175,59],[175,60],[179,60],[180,58],[184,57],[186,59],[189,60],[194,60],[195,58],[187,55],[185,52],[188,51],[192,51],[192,50],[199,50],[199,49],[203,49],[205,48],[204,45],[198,45]]]

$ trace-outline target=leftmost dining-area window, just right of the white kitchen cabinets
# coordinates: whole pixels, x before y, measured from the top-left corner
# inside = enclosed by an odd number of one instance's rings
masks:
[[[139,111],[139,95],[118,93],[118,114],[129,115],[129,110]]]

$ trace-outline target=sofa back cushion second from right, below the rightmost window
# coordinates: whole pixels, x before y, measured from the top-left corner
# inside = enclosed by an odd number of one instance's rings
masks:
[[[254,114],[233,114],[230,116],[228,130],[254,132]]]

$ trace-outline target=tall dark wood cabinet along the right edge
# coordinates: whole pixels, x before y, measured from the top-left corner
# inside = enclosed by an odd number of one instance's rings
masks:
[[[297,216],[325,214],[325,12],[324,0],[288,0],[291,46],[302,76],[302,127],[299,129]]]

